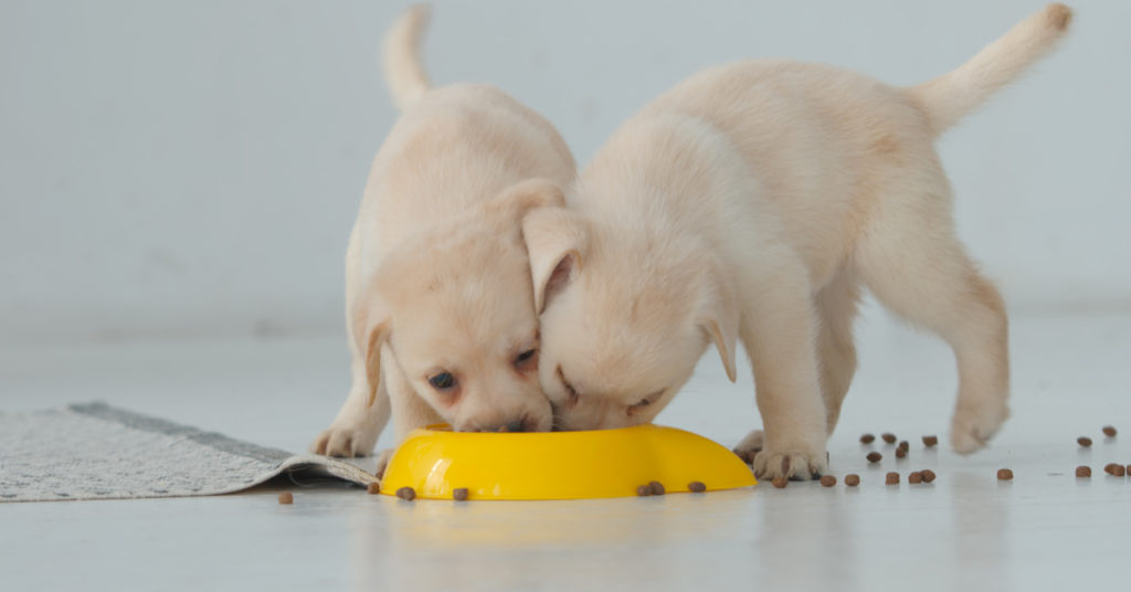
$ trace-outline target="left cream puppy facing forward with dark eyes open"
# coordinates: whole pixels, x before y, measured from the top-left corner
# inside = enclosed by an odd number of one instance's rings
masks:
[[[398,443],[439,421],[552,424],[520,222],[563,205],[558,185],[576,175],[573,157],[545,119],[493,87],[430,88],[417,55],[426,16],[409,10],[386,40],[404,114],[373,161],[349,235],[353,386],[316,453],[369,454],[390,412]]]

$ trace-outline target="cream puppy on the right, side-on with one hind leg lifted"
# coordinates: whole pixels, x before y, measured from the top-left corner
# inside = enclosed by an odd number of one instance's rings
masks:
[[[934,140],[1070,18],[1051,5],[912,88],[788,61],[711,68],[624,123],[571,191],[576,212],[524,222],[560,427],[650,421],[709,343],[733,380],[741,341],[766,431],[739,451],[761,451],[765,478],[817,475],[863,285],[953,348],[951,444],[982,447],[1008,415],[1005,309],[955,237]]]

